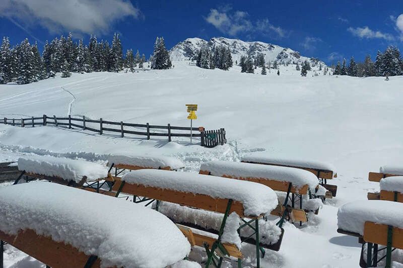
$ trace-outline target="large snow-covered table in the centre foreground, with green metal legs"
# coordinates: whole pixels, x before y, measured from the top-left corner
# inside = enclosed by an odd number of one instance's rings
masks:
[[[151,203],[150,200],[157,200],[157,209],[159,202],[165,201],[223,213],[218,238],[212,239],[210,236],[197,235],[197,239],[195,239],[194,236],[192,238],[188,235],[192,244],[195,243],[195,245],[206,248],[208,254],[206,266],[214,263],[216,250],[221,251],[221,255],[234,256],[238,258],[238,263],[241,262],[240,238],[237,233],[240,228],[239,217],[249,218],[250,220],[245,220],[247,224],[245,223],[243,227],[253,226],[255,230],[252,235],[255,236],[256,260],[259,266],[258,220],[265,214],[271,213],[278,204],[276,193],[272,189],[256,183],[158,169],[139,169],[126,173],[122,176],[121,181],[115,182],[112,190],[117,194],[120,192],[132,194],[133,201],[137,197],[142,197],[136,203]],[[226,224],[227,218],[234,218],[230,221],[232,224]],[[225,234],[226,231],[227,234]],[[189,232],[184,233],[189,234]],[[217,261],[217,263],[221,263],[222,257]]]

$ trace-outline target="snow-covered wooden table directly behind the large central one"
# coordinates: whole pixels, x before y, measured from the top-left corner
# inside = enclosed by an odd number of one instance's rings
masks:
[[[286,217],[293,222],[306,222],[307,217],[303,210],[303,195],[315,191],[318,180],[315,175],[306,170],[284,167],[257,165],[233,161],[209,161],[202,163],[200,174],[222,176],[259,183],[275,191],[287,193],[284,204],[279,205],[272,214],[279,215],[282,220]],[[291,197],[290,197],[291,194]],[[291,207],[287,206],[291,199]],[[299,209],[296,202],[299,201]],[[313,208],[318,211],[319,206]]]

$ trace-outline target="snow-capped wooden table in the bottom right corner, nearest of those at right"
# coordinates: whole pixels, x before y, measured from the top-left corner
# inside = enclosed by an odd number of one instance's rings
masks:
[[[384,257],[385,267],[390,267],[392,248],[403,249],[402,212],[403,204],[384,200],[356,201],[339,208],[338,232],[359,237],[363,244],[361,267],[377,266]],[[380,249],[378,245],[385,248]],[[386,254],[381,257],[384,249]]]

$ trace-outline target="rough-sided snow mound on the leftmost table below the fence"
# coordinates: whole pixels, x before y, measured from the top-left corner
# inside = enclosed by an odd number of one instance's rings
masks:
[[[76,183],[83,180],[84,176],[87,176],[87,181],[108,176],[108,169],[101,164],[49,155],[20,157],[18,169],[29,173],[57,176]]]

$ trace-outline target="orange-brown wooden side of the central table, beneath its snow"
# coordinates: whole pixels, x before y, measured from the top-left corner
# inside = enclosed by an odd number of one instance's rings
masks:
[[[113,186],[113,191],[117,191],[120,187],[120,184],[116,182],[116,186]],[[184,193],[169,189],[161,189],[157,187],[148,187],[144,185],[138,184],[129,184],[125,183],[122,190],[122,193],[141,196],[141,197],[148,197],[152,199],[157,199],[161,201],[171,202],[175,204],[180,204],[184,206],[189,206],[193,208],[204,209],[208,211],[215,211],[224,213],[228,199],[223,198],[213,198],[208,195],[201,195],[201,194],[193,194],[193,193]],[[259,215],[244,215],[244,209],[242,203],[238,201],[233,201],[231,206],[231,212],[236,212],[240,217],[253,217]]]

